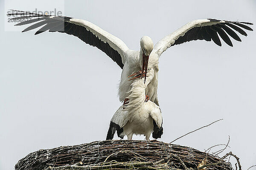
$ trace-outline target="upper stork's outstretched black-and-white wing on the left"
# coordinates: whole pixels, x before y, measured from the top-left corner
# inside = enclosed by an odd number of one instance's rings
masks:
[[[129,50],[129,48],[122,40],[113,36],[107,31],[104,31],[102,28],[99,28],[93,23],[72,17],[35,14],[17,10],[12,11],[13,13],[7,15],[17,16],[12,18],[12,20],[22,21],[15,26],[32,24],[22,32],[30,31],[42,26],[38,31],[35,32],[35,35],[44,31],[58,31],[74,35],[79,37],[79,39],[85,43],[96,46],[101,51],[105,52],[109,57],[111,57],[111,59],[113,59],[113,61],[123,68],[125,63],[125,53]]]

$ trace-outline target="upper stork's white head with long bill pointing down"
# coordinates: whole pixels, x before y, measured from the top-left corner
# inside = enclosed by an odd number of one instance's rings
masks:
[[[154,44],[150,37],[143,36],[140,39],[140,66],[142,67],[142,74],[145,70],[144,83],[146,81],[146,76],[147,76],[149,54],[151,53],[153,48],[154,48]],[[141,76],[141,78],[142,78],[142,76]]]

